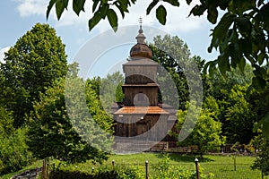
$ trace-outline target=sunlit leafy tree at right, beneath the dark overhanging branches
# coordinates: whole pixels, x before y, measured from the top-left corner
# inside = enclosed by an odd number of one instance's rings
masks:
[[[252,129],[257,121],[257,91],[249,87],[252,77],[250,65],[246,65],[244,72],[232,69],[225,77],[220,72],[207,76],[204,108],[215,113],[229,143],[247,144],[256,135]]]

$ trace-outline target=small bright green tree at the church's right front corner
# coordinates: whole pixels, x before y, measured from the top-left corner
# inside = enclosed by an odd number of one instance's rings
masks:
[[[225,142],[225,137],[221,136],[221,123],[214,121],[213,112],[208,109],[202,109],[201,114],[199,114],[198,111],[197,107],[192,107],[185,111],[178,110],[178,123],[176,126],[180,132],[190,132],[187,139],[179,141],[178,144],[180,146],[197,146],[198,152],[203,158],[205,152],[220,150],[221,145]],[[184,124],[186,119],[189,121]],[[194,129],[191,129],[191,124],[195,124]]]

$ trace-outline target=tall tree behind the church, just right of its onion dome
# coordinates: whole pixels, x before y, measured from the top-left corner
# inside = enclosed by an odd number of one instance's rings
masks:
[[[179,103],[179,108],[184,109],[189,100],[189,85],[195,85],[195,80],[197,80],[195,77],[200,75],[204,61],[199,56],[191,57],[187,44],[178,36],[165,35],[163,38],[156,36],[149,47],[152,49],[152,60],[161,66],[157,77],[157,81],[161,85],[160,101],[162,102],[164,99],[171,102],[172,105]],[[198,72],[198,74],[191,72]],[[173,83],[177,89],[173,89],[174,86],[171,85]],[[176,91],[177,94],[174,94],[173,91]],[[178,101],[175,101],[177,97]]]

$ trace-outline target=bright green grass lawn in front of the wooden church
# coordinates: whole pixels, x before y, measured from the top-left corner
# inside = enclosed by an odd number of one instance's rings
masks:
[[[163,156],[160,153],[140,153],[132,155],[112,155],[108,158],[103,165],[112,166],[112,160],[115,161],[115,166],[144,166],[145,161],[149,162],[149,173],[150,175],[154,173],[152,166],[161,162]],[[190,155],[179,155],[179,154],[169,154],[170,165],[186,167],[188,170],[195,170],[195,156]],[[198,158],[198,157],[197,157]],[[251,170],[250,166],[252,165],[255,158],[253,157],[237,157],[236,165],[234,165],[233,156],[213,156],[206,155],[204,159],[198,158],[200,167],[204,169],[204,174],[213,173],[213,178],[223,178],[223,179],[256,179],[261,178],[260,171]],[[38,161],[32,166],[28,166],[23,170],[41,166],[42,161]],[[81,170],[88,171],[91,170],[91,167],[99,167],[98,165],[93,165],[91,162],[81,163],[74,166],[66,166]],[[236,168],[235,168],[236,167]],[[22,171],[21,171],[22,172]],[[17,174],[17,173],[15,173]],[[3,179],[9,179],[12,175],[3,175]],[[269,176],[265,177],[269,179]]]

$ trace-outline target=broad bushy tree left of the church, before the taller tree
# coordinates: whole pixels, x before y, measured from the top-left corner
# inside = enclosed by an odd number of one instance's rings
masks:
[[[85,136],[79,135],[81,129],[77,127],[80,125],[72,123],[70,115],[74,114],[67,113],[65,107],[65,82],[56,81],[54,87],[41,95],[30,115],[28,145],[33,155],[37,158],[53,157],[67,162],[87,159],[101,162],[107,158],[105,152],[95,149],[86,141]],[[85,128],[89,127],[84,125]],[[91,132],[91,129],[92,127],[83,132]],[[93,131],[91,134],[92,139],[97,138],[95,135],[98,133]]]

